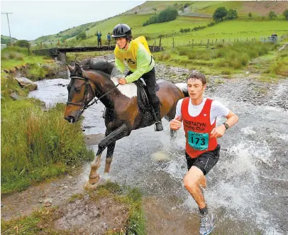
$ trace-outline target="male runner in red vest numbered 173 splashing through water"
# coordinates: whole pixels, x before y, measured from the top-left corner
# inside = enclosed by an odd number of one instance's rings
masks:
[[[221,138],[228,128],[238,121],[238,116],[216,100],[203,97],[206,78],[200,72],[192,71],[187,77],[189,97],[180,99],[175,119],[170,129],[177,131],[184,126],[186,136],[186,159],[188,173],[184,176],[184,187],[199,207],[201,235],[210,234],[214,229],[214,215],[208,212],[201,187],[206,187],[205,175],[219,159]],[[216,127],[216,117],[225,116],[226,122]]]

